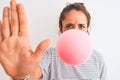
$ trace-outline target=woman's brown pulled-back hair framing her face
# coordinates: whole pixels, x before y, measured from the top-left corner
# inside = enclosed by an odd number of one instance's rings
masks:
[[[62,21],[65,19],[67,13],[69,13],[71,10],[82,11],[87,17],[87,28],[89,28],[91,16],[84,6],[84,3],[73,3],[68,4],[65,8],[63,8],[59,17],[59,31],[62,33]]]

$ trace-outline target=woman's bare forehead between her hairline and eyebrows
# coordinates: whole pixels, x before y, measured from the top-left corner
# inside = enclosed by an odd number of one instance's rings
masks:
[[[71,10],[65,15],[63,23],[87,23],[87,17],[82,11]]]

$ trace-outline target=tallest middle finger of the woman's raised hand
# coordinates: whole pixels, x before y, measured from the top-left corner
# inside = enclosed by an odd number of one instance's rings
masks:
[[[18,12],[16,8],[16,1],[11,0],[10,2],[10,8],[11,8],[11,33],[12,35],[18,35]]]

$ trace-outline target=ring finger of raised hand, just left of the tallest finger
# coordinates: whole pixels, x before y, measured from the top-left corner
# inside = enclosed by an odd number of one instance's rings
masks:
[[[10,36],[10,24],[9,24],[9,8],[5,7],[3,9],[3,17],[2,17],[2,37],[3,39],[7,39]]]

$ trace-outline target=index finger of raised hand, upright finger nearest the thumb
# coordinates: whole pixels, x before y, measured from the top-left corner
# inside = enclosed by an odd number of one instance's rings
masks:
[[[28,37],[28,22],[25,14],[25,10],[22,4],[17,5],[18,17],[19,17],[19,29],[22,36]]]

